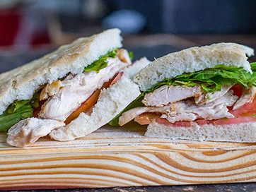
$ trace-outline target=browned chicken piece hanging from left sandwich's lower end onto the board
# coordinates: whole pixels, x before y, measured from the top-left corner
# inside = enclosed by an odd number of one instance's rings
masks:
[[[24,119],[9,129],[6,142],[9,145],[24,148],[35,143],[39,138],[47,136],[54,128],[64,125],[63,122],[51,119]]]

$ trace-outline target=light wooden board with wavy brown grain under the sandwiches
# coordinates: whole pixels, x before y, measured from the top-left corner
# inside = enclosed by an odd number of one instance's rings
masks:
[[[144,129],[100,128],[86,138],[42,138],[11,148],[0,135],[0,188],[80,188],[256,181],[256,145],[145,138]]]

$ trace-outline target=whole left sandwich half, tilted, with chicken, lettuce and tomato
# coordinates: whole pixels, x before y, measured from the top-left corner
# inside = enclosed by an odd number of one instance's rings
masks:
[[[0,75],[0,131],[25,147],[50,135],[74,140],[107,124],[140,91],[130,78],[149,63],[132,64],[120,30],[83,37]],[[135,71],[135,72],[134,72]]]

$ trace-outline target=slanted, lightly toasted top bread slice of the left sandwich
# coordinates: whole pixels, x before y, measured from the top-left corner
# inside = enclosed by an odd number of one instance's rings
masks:
[[[51,83],[67,73],[82,73],[100,56],[122,47],[119,29],[105,30],[63,45],[56,51],[29,64],[0,75],[0,114],[15,100],[33,97],[40,85]]]

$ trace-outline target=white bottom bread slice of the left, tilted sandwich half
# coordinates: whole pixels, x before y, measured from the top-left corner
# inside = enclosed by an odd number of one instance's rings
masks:
[[[107,124],[140,93],[138,85],[127,76],[123,76],[110,88],[100,92],[98,102],[93,107],[91,114],[81,113],[70,124],[52,131],[50,137],[54,140],[65,141],[86,136]]]

